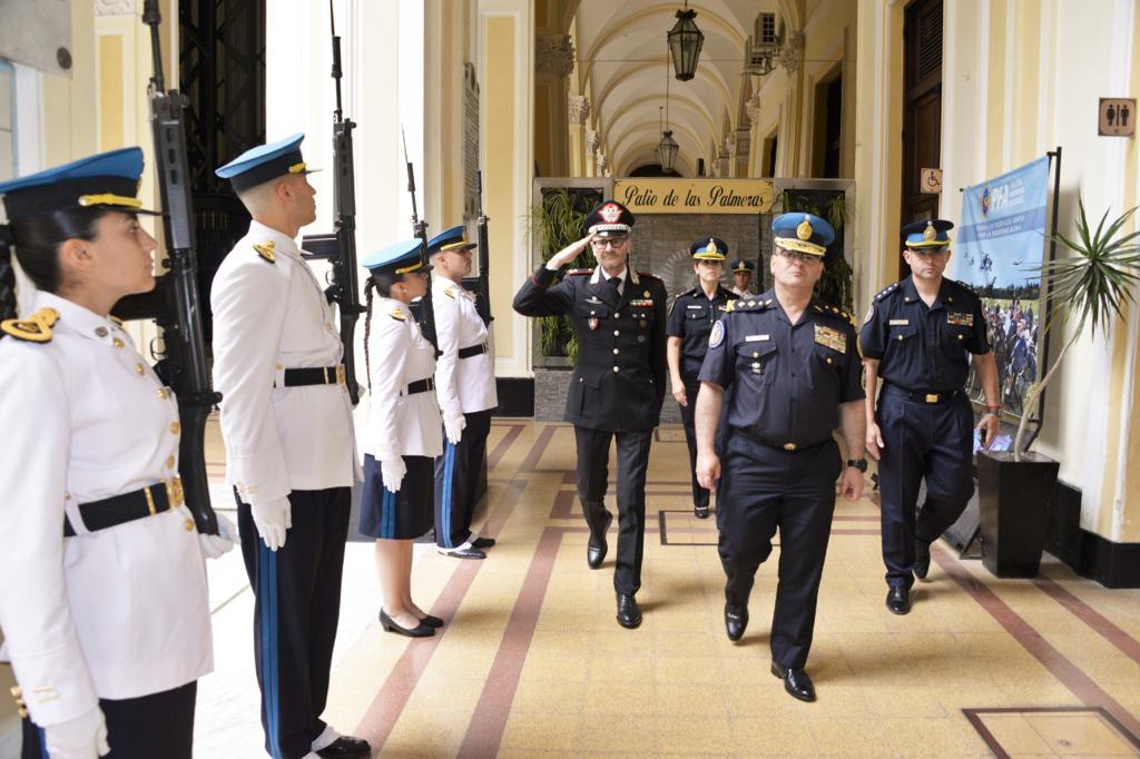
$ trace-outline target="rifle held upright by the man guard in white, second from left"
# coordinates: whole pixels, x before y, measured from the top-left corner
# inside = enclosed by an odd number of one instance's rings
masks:
[[[356,255],[356,171],[352,163],[352,130],[356,123],[341,112],[341,38],[336,35],[333,0],[328,0],[328,23],[333,33],[333,81],[336,82],[336,109],[333,112],[333,204],[336,206],[336,231],[331,235],[307,235],[301,238],[301,255],[333,264],[332,281],[325,297],[336,303],[341,312],[341,343],[344,346],[344,385],[349,400],[360,402],[356,378],[353,335],[363,309],[359,301]]]

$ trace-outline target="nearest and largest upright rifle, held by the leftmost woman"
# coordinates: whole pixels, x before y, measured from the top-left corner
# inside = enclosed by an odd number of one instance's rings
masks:
[[[205,337],[198,300],[198,261],[195,253],[190,171],[186,158],[186,130],[182,109],[186,98],[178,90],[165,89],[162,74],[162,43],[158,26],[162,15],[157,0],[142,3],[142,23],[150,27],[154,75],[150,77],[150,128],[157,157],[162,198],[162,225],[166,240],[168,272],[157,278],[150,293],[124,297],[115,304],[123,319],[154,319],[163,330],[162,358],[154,369],[178,398],[181,440],[178,473],[186,493],[186,505],[194,514],[198,532],[218,533],[218,517],[210,505],[206,479],[205,430],[210,410],[221,400],[210,386],[206,370]]]

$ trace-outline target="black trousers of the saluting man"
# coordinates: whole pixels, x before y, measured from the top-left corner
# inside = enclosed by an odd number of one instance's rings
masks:
[[[594,531],[605,524],[603,499],[610,476],[610,441],[618,441],[618,558],[613,589],[637,593],[645,547],[645,472],[653,431],[613,432],[575,426],[573,432],[578,447],[578,498],[586,523]]]

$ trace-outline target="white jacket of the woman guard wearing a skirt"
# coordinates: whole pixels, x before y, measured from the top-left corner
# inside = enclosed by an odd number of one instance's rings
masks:
[[[407,394],[409,383],[435,373],[435,349],[400,301],[377,297],[368,327],[368,429],[364,451],[377,460],[441,456],[442,421],[435,393]]]

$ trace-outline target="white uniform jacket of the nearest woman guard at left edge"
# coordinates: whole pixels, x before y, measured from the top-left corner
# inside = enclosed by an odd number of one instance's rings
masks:
[[[41,308],[59,312],[50,342],[0,340],[0,627],[44,727],[196,680],[213,651],[190,511],[89,532],[78,508],[178,474],[173,393],[111,319],[44,292]]]

